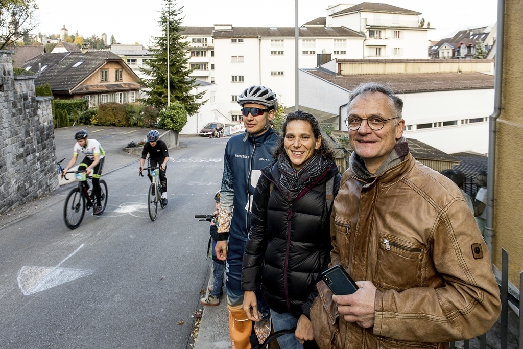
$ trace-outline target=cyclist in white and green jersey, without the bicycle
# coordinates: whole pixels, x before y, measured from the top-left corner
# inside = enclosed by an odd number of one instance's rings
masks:
[[[84,160],[82,160],[82,163],[78,166],[78,171],[84,170],[88,176],[90,176],[91,171],[93,171],[93,192],[96,196],[96,207],[93,215],[100,215],[103,210],[100,204],[100,176],[104,168],[105,151],[101,147],[100,142],[96,139],[87,138],[88,134],[86,130],[79,130],[75,133],[74,139],[76,140],[76,143],[73,148],[73,157],[63,169],[62,176],[74,166],[76,159],[78,159],[78,154],[80,152],[84,153],[85,157]]]

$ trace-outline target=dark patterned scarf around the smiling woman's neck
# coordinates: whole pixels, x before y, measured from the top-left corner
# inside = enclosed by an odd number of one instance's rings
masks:
[[[324,160],[323,156],[313,155],[300,170],[296,171],[287,154],[281,152],[278,156],[278,168],[281,173],[280,188],[283,197],[288,202],[297,198],[305,186],[325,172],[330,165],[331,162]]]

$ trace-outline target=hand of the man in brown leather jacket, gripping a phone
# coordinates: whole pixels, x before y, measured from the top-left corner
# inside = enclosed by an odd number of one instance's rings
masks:
[[[374,326],[374,298],[376,286],[372,282],[357,281],[360,287],[352,295],[336,296],[332,299],[338,305],[338,312],[347,322],[356,322],[362,328]]]

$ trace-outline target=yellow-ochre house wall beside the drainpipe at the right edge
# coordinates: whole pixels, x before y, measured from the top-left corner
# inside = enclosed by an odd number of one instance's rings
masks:
[[[502,113],[497,122],[493,261],[509,255],[510,282],[523,271],[523,2],[506,0]]]

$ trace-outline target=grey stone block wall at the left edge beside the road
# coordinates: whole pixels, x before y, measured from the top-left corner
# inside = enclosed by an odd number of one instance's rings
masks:
[[[14,76],[12,52],[0,50],[0,213],[58,188],[52,97]]]

